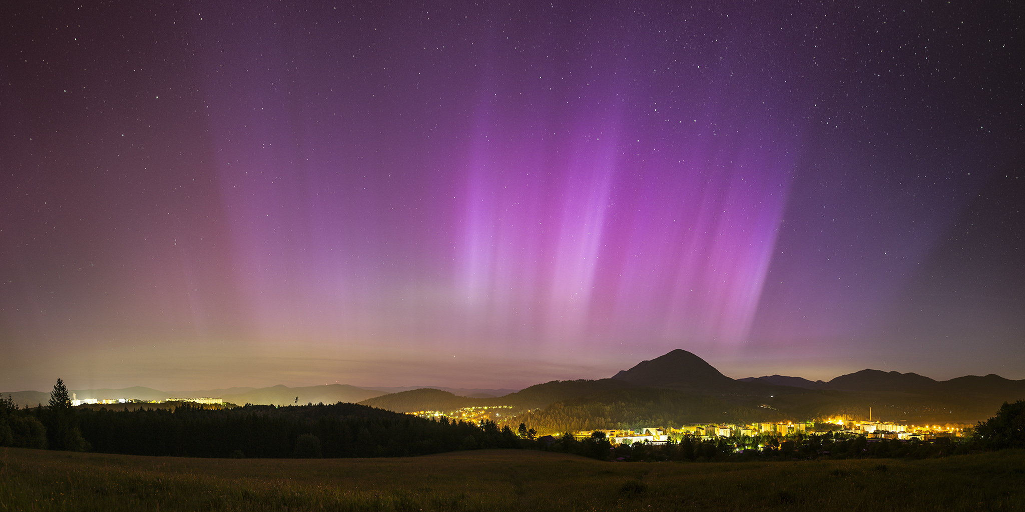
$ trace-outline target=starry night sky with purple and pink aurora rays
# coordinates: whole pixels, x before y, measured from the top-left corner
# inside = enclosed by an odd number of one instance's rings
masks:
[[[0,388],[1025,379],[1012,1],[0,11]]]

